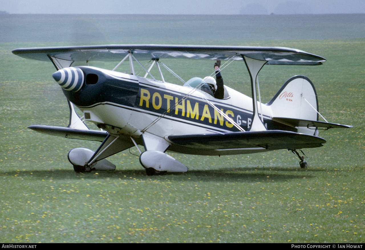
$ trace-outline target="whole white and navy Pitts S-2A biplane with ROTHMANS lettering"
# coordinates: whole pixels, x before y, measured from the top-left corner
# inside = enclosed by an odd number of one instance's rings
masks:
[[[96,151],[75,148],[68,159],[77,172],[114,170],[105,158],[137,147],[139,161],[148,175],[187,172],[188,168],[169,156],[167,150],[193,155],[237,155],[288,149],[307,167],[297,150],[321,147],[326,140],[318,129],[350,128],[349,125],[319,121],[318,99],[307,77],[290,78],[266,104],[261,103],[258,73],[264,65],[321,65],[326,59],[283,47],[187,46],[187,45],[101,45],[19,48],[15,55],[51,61],[53,78],[62,87],[70,107],[68,127],[33,125],[37,132],[100,141]],[[204,79],[185,82],[166,66],[166,58],[197,59],[246,65],[252,97],[223,87],[219,69]],[[119,62],[113,70],[75,66],[74,62]],[[130,74],[115,71],[129,61]],[[141,61],[149,60],[149,66]],[[138,63],[145,75],[136,75]],[[160,80],[150,73],[156,65]],[[165,82],[161,67],[175,75],[183,86]],[[223,87],[223,89],[222,89]],[[221,97],[214,92],[220,88]],[[80,118],[74,110],[83,113]],[[324,118],[323,118],[324,119]],[[324,119],[325,120],[325,119]],[[89,129],[91,121],[101,130]],[[143,145],[141,152],[138,145]],[[303,151],[302,151],[303,152]]]

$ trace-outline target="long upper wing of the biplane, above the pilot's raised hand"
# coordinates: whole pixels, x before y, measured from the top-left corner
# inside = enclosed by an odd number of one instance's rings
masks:
[[[242,56],[245,55],[249,58],[267,61],[268,65],[320,65],[326,61],[321,56],[292,48],[257,46],[127,44],[18,48],[12,52],[24,58],[41,61],[48,61],[51,56],[73,62],[87,62],[120,61],[131,51],[138,60],[152,58],[225,60],[235,55],[238,55],[235,60],[242,60]]]

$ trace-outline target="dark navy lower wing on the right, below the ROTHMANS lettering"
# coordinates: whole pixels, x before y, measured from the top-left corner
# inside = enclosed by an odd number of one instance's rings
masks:
[[[283,130],[266,130],[257,132],[230,132],[223,134],[190,134],[168,136],[174,144],[189,148],[207,150],[262,148],[301,149],[322,147],[323,138]]]

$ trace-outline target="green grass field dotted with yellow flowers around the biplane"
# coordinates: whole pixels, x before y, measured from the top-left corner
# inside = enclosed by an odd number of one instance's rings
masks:
[[[189,171],[147,176],[138,157],[125,151],[110,157],[116,171],[76,173],[68,151],[95,150],[99,143],[27,129],[66,126],[68,106],[51,78],[51,63],[11,54],[18,47],[68,44],[0,43],[0,241],[363,243],[365,39],[218,44],[292,47],[323,56],[321,66],[265,66],[263,101],[303,74],[316,87],[320,113],[354,128],[321,133],[327,143],[304,150],[304,170],[285,150],[221,157],[170,153]],[[205,64],[168,62],[184,79],[209,75],[212,65]],[[225,84],[249,93],[241,64],[222,74]]]

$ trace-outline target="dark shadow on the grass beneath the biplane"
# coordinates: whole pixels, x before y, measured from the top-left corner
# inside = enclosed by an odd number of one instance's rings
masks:
[[[222,169],[205,169],[205,170],[189,170],[189,173],[165,173],[156,175],[155,177],[147,176],[143,169],[124,169],[115,171],[95,171],[94,173],[76,173],[69,169],[62,170],[35,170],[35,171],[11,171],[7,172],[8,176],[17,176],[21,178],[34,178],[35,180],[130,180],[130,177],[138,180],[149,179],[169,179],[180,181],[207,181],[207,182],[225,182],[225,181],[288,181],[295,179],[303,179],[315,177],[315,172],[328,172],[327,169],[306,169],[303,170],[270,167],[270,168],[222,168]],[[187,179],[189,177],[189,179]]]

